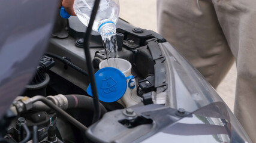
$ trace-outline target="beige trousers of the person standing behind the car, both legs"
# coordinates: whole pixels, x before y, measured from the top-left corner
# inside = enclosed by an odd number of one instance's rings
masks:
[[[219,85],[236,60],[234,113],[256,142],[256,0],[158,0],[158,30]]]

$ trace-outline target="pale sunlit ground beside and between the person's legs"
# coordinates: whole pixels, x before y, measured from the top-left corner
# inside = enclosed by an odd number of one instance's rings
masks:
[[[150,29],[157,32],[156,0],[119,0],[120,17],[136,27]],[[233,111],[236,88],[236,66],[231,67],[225,79],[216,91]]]

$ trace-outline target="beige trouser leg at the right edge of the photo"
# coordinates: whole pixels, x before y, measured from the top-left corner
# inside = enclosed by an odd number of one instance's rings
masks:
[[[212,0],[236,58],[237,84],[234,113],[256,142],[256,1]]]

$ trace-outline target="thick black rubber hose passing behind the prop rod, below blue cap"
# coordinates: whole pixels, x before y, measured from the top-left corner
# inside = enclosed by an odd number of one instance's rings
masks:
[[[68,109],[83,108],[85,110],[94,111],[94,102],[91,97],[85,95],[65,95],[68,100]],[[107,113],[106,108],[100,103],[101,116]]]

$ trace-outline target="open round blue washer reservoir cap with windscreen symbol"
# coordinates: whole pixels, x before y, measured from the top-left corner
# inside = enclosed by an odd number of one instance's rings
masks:
[[[122,71],[113,67],[104,67],[98,70],[94,76],[100,101],[115,102],[125,94],[127,77]],[[86,92],[92,96],[91,83]]]

